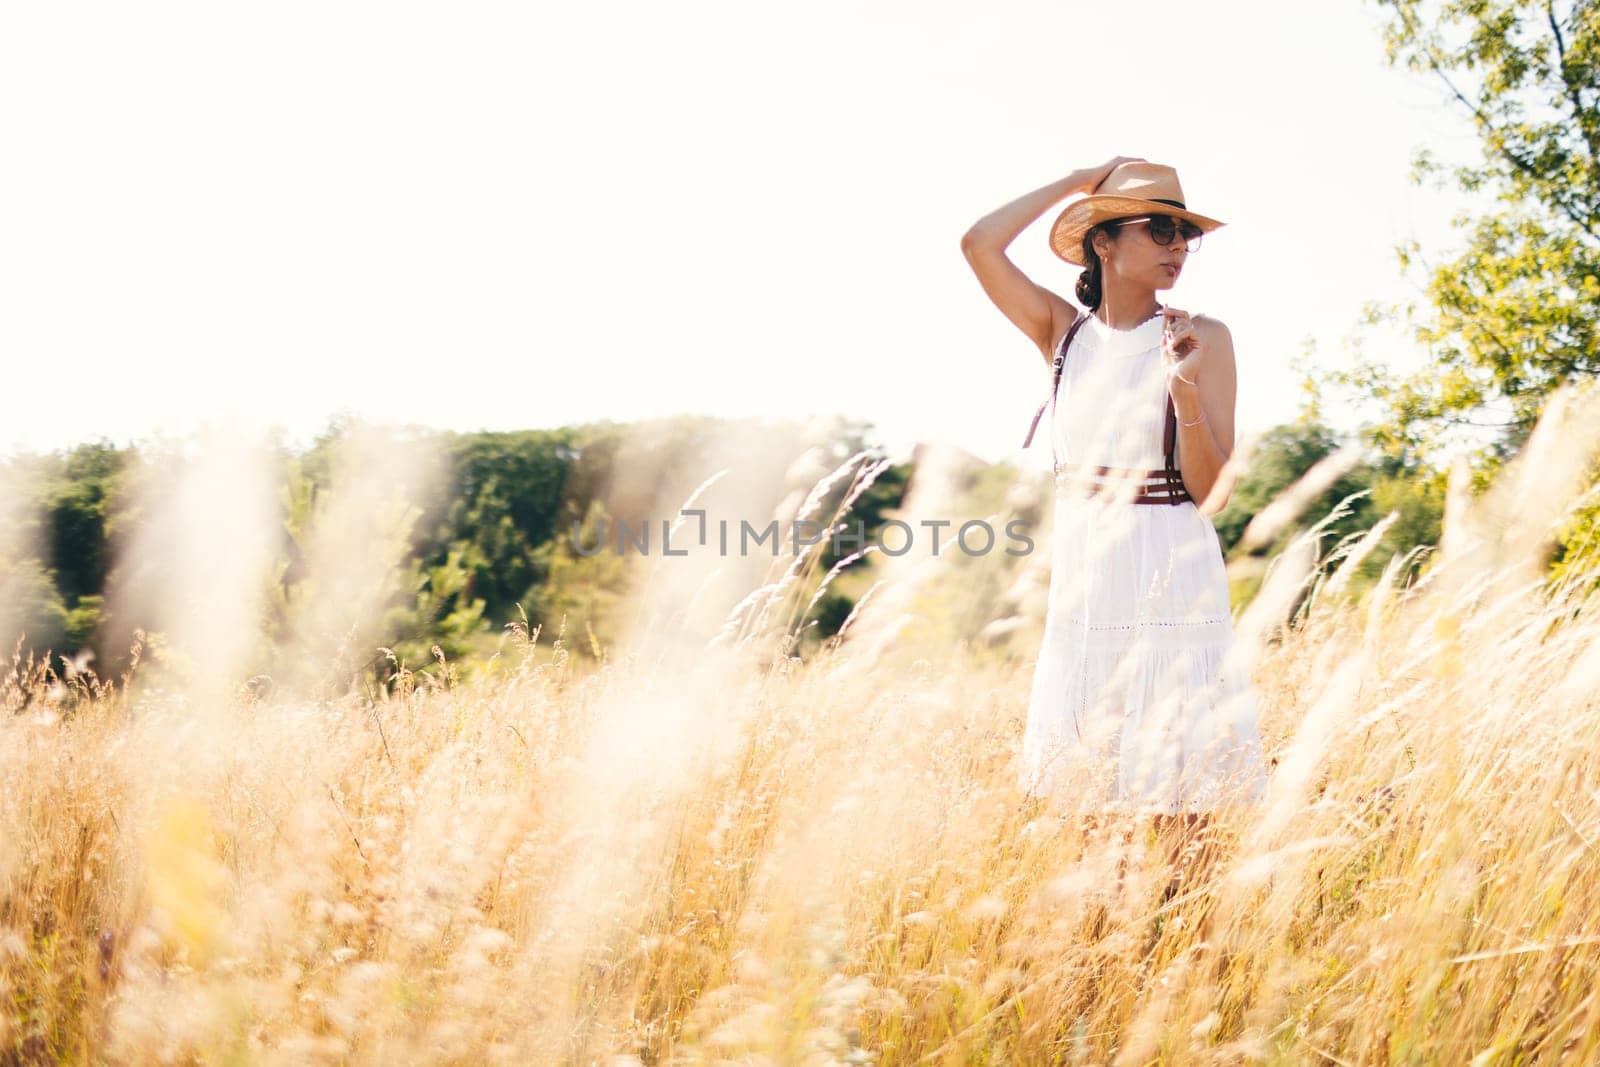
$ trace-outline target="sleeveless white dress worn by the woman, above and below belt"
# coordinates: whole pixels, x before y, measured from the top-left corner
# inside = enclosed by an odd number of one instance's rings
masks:
[[[1163,467],[1162,317],[1090,315],[1051,405],[1056,462]],[[1133,504],[1054,486],[1050,608],[1019,787],[1074,811],[1208,811],[1266,798],[1250,678],[1216,528],[1194,501]]]

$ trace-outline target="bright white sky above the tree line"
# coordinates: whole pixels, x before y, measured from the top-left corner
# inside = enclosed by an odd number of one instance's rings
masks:
[[[1354,0],[0,11],[6,450],[837,410],[1048,462],[958,242],[1112,155],[1227,222],[1166,299],[1229,325],[1250,432],[1410,293],[1397,242],[1451,242],[1413,149],[1472,152]],[[1069,294],[1064,203],[1011,254]]]

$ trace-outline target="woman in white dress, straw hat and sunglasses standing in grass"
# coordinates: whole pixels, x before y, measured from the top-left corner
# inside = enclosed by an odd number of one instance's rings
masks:
[[[1050,246],[1083,267],[1083,312],[1005,254],[1080,192],[1091,195],[1059,214]],[[1234,450],[1234,346],[1216,318],[1155,296],[1219,226],[1184,206],[1173,168],[1115,157],[962,238],[984,291],[1053,371],[1040,408],[1056,472],[1050,609],[1019,784],[1078,813],[1152,814],[1163,833],[1181,819],[1174,862],[1210,811],[1261,801],[1267,784],[1254,694],[1230,656],[1222,552],[1200,510],[1226,502],[1213,488]]]

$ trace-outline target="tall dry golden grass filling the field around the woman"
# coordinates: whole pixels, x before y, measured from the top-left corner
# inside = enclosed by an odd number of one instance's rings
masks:
[[[1595,416],[1560,395],[1478,499],[1458,470],[1419,582],[1350,592],[1381,528],[1274,560],[1238,621],[1270,803],[1171,899],[1154,827],[1016,793],[1029,657],[923,624],[998,555],[878,560],[806,661],[814,561],[707,613],[693,557],[595,669],[523,627],[338,697],[18,664],[0,1062],[1595,1062],[1594,571],[1539,568]]]

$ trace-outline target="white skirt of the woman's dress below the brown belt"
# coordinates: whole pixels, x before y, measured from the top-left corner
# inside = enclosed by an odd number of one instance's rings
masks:
[[[1018,785],[1070,811],[1258,805],[1267,769],[1216,528],[1194,501],[1056,494]]]

